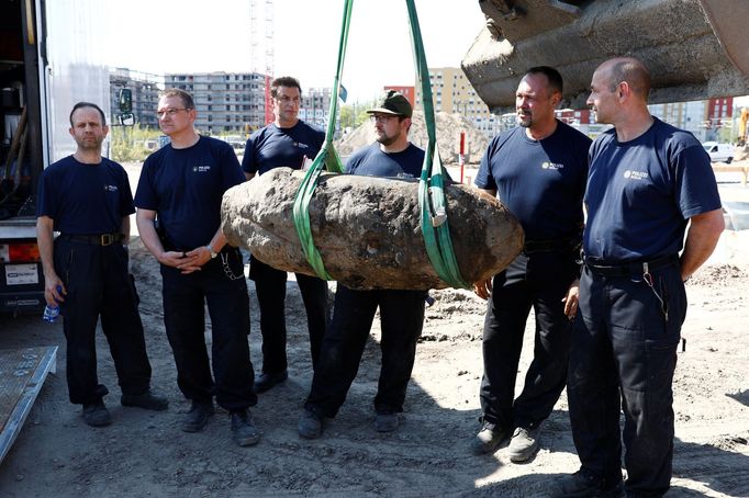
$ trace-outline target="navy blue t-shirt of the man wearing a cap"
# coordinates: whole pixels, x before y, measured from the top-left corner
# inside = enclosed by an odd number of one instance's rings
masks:
[[[345,172],[367,177],[420,178],[424,163],[424,150],[409,144],[400,152],[383,152],[374,143],[357,150],[346,161]]]

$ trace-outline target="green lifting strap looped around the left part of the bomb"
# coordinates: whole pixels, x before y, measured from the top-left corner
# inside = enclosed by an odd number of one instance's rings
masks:
[[[346,55],[346,43],[348,41],[348,29],[351,21],[353,5],[354,0],[344,1],[344,21],[340,27],[340,42],[338,44],[338,66],[336,68],[335,82],[331,95],[331,110],[327,120],[327,129],[325,132],[325,144],[320,149],[320,152],[317,152],[312,166],[304,176],[304,179],[297,191],[297,197],[294,199],[293,218],[297,235],[299,235],[299,240],[302,244],[302,250],[304,251],[306,260],[315,273],[317,273],[317,276],[323,280],[333,280],[333,278],[327,273],[327,270],[325,270],[323,258],[320,256],[314,239],[312,238],[309,207],[312,194],[317,186],[317,180],[320,179],[323,166],[325,166],[328,171],[336,173],[343,172],[340,158],[333,145],[333,134],[335,133],[335,116],[338,111],[338,89],[340,87],[340,73],[344,68],[344,57]]]

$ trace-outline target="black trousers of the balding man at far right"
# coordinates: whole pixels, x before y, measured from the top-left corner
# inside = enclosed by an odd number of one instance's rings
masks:
[[[584,268],[567,389],[583,471],[607,485],[621,482],[623,438],[631,496],[662,496],[670,486],[671,383],[686,315],[679,264],[651,273],[652,287],[641,275],[607,278]]]

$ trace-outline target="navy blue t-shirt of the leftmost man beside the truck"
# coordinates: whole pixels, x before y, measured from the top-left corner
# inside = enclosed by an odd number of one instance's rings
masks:
[[[79,162],[72,156],[49,165],[40,179],[36,216],[68,235],[114,234],[135,212],[127,173],[114,161]]]

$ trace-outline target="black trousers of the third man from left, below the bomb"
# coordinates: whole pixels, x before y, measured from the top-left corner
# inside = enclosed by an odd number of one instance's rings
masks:
[[[287,272],[276,270],[255,257],[250,257],[249,278],[255,281],[255,291],[260,306],[260,333],[262,335],[262,372],[279,373],[287,369],[286,352],[286,282]],[[306,326],[310,331],[310,352],[313,369],[317,365],[320,348],[329,322],[327,282],[295,273],[302,302],[306,310]]]

